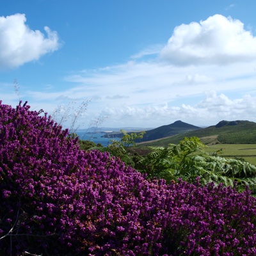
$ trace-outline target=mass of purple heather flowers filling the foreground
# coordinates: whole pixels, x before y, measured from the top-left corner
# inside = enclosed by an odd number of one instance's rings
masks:
[[[256,255],[250,191],[149,180],[0,102],[2,255]]]

